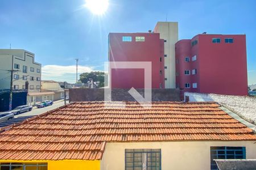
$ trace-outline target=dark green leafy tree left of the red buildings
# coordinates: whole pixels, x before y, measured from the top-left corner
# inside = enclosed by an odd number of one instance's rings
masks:
[[[104,87],[104,72],[102,71],[91,71],[90,73],[80,74],[80,81],[82,83],[87,83],[90,79],[93,79],[93,82],[99,81],[100,84],[98,87]]]

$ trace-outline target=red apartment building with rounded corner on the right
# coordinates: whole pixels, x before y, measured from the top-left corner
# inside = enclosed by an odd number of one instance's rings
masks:
[[[245,35],[200,34],[175,44],[176,87],[188,92],[247,95]]]

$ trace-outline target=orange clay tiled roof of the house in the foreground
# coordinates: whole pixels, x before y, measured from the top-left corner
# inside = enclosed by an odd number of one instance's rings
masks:
[[[216,103],[73,103],[1,129],[0,159],[101,159],[106,142],[256,141]]]

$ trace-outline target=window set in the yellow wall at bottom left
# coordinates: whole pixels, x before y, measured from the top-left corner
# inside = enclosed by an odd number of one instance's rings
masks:
[[[47,163],[0,163],[0,169],[47,170]]]

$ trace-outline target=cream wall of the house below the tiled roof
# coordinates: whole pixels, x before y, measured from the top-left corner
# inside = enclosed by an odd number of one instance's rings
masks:
[[[211,146],[245,146],[246,159],[256,159],[255,141],[106,143],[101,160],[101,169],[125,169],[125,149],[160,148],[162,152],[162,170],[210,170]]]

